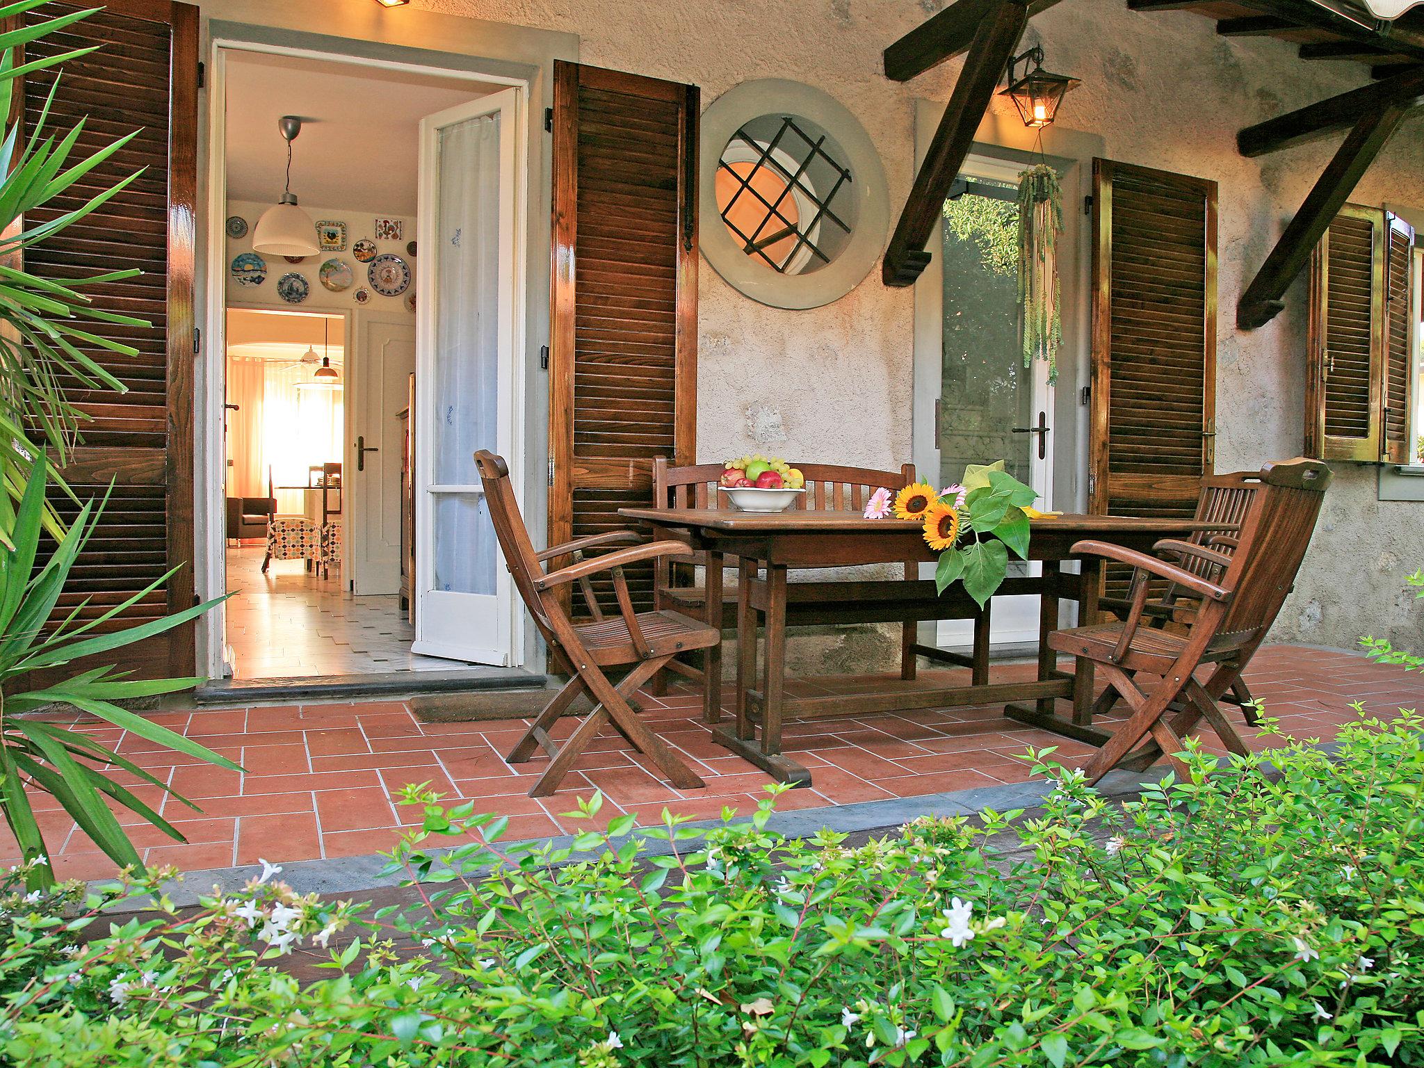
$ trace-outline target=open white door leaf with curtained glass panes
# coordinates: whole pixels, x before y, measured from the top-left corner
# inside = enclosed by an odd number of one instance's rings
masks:
[[[413,651],[496,665],[513,662],[513,590],[474,451],[518,471],[518,108],[510,88],[420,121]]]

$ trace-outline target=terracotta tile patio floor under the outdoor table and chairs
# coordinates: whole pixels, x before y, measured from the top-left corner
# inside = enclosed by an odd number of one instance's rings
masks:
[[[1027,665],[995,665],[995,674],[1027,674]],[[941,672],[924,672],[924,676]],[[950,674],[950,672],[943,672]],[[956,672],[957,674],[957,672]],[[1358,656],[1292,646],[1263,649],[1247,675],[1267,713],[1297,738],[1330,738],[1354,718],[1349,702],[1390,716],[1420,706],[1424,676],[1381,668]],[[873,685],[866,678],[827,678],[797,684],[807,691],[850,692]],[[147,768],[202,812],[194,812],[152,786],[135,793],[158,807],[188,839],[174,843],[141,819],[134,839],[150,863],[185,869],[310,860],[389,849],[403,823],[419,822],[413,807],[392,802],[406,783],[431,782],[451,800],[476,799],[483,810],[510,817],[510,837],[555,834],[575,827],[560,813],[574,809],[577,795],[598,787],[602,815],[639,812],[656,820],[662,806],[695,817],[716,816],[723,805],[750,810],[769,782],[758,769],[718,746],[699,719],[699,698],[688,691],[665,698],[644,696],[646,715],[706,780],[705,790],[675,790],[621,736],[601,736],[564,787],[534,799],[525,790],[543,769],[511,768],[501,759],[524,721],[420,723],[403,702],[325,703],[285,708],[198,709],[161,712],[154,719],[239,762],[245,773],[191,760],[125,735],[117,728],[75,725]],[[572,729],[562,721],[560,731]],[[1247,732],[1249,733],[1249,732]],[[1208,736],[1208,740],[1215,738]],[[1253,739],[1255,740],[1255,739]],[[1257,745],[1270,739],[1259,739]],[[780,799],[782,809],[820,807],[883,797],[910,797],[941,790],[1021,782],[1028,778],[1014,759],[1027,745],[1059,746],[1065,760],[1089,748],[1005,719],[998,708],[916,711],[900,715],[820,719],[786,725],[787,749],[812,769],[812,789]],[[121,780],[131,776],[118,773]],[[128,785],[125,782],[125,785]],[[40,820],[63,877],[95,879],[114,866],[47,797],[38,796]],[[587,826],[587,824],[582,824]],[[0,842],[0,859],[13,863],[13,839]]]

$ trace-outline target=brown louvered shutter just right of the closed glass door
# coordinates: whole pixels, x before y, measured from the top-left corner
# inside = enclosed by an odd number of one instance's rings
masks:
[[[1092,174],[1089,511],[1190,517],[1215,451],[1216,182]]]

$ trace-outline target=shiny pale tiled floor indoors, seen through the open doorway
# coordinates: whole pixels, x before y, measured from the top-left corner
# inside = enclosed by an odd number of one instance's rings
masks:
[[[261,543],[228,547],[228,645],[234,678],[308,678],[387,671],[451,671],[463,661],[417,656],[400,598],[345,597],[336,571],[273,560],[262,574]]]

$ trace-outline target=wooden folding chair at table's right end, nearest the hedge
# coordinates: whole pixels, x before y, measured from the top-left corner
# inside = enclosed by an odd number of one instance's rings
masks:
[[[1190,541],[1166,540],[1155,545],[1183,562],[1210,564],[1220,575],[1216,580],[1102,541],[1074,545],[1077,554],[1135,568],[1125,619],[1057,631],[1048,638],[1051,648],[1088,658],[1106,678],[1108,686],[1094,703],[1094,713],[1108,712],[1119,698],[1131,709],[1088,765],[1089,782],[1098,782],[1118,765],[1143,766],[1158,753],[1166,753],[1185,773],[1176,756],[1183,748],[1182,735],[1202,719],[1227,750],[1242,756],[1249,752],[1218,701],[1239,681],[1280,612],[1329,484],[1330,468],[1319,460],[1267,464],[1260,474],[1240,483],[1249,498],[1230,555]],[[1151,577],[1165,578],[1199,598],[1180,634],[1143,624]],[[1203,664],[1212,665],[1205,682],[1195,675]],[[1148,742],[1146,748],[1132,752],[1142,742]]]

